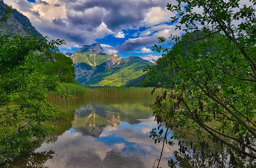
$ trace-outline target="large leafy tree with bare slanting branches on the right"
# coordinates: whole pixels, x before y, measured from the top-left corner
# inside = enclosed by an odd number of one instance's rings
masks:
[[[206,149],[209,140],[225,145],[238,152],[230,152],[233,166],[239,158],[256,159],[256,2],[176,1],[167,9],[175,14],[175,30],[183,29],[184,35],[171,35],[169,41],[159,37],[162,45],[154,45],[162,52],[156,64],[164,60],[164,70],[171,75],[170,86],[162,88],[156,99],[154,115],[159,126],[150,136],[155,142],[163,141],[163,146],[188,134],[197,138],[201,148]],[[188,40],[194,32],[204,40]],[[182,55],[186,45],[189,51]],[[161,72],[154,67],[145,70]],[[170,130],[175,132],[168,139]]]

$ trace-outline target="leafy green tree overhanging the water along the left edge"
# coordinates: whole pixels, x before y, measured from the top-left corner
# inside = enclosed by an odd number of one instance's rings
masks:
[[[8,18],[11,6],[6,10]],[[44,122],[62,118],[46,90],[58,89],[55,77],[38,73],[38,59],[64,40],[0,33],[0,166],[21,152],[40,146],[55,128]]]

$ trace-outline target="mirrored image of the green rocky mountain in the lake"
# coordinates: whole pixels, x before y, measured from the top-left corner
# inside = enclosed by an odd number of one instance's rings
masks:
[[[82,135],[98,138],[102,130],[107,126],[118,126],[122,121],[130,124],[138,124],[138,119],[151,116],[152,110],[142,104],[88,104],[76,109],[72,128]]]

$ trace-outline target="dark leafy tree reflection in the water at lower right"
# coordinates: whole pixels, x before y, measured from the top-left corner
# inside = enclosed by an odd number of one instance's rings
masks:
[[[199,144],[179,142],[180,148],[172,152],[175,159],[168,160],[170,168],[252,168],[256,167],[251,158],[238,158],[238,153],[225,146],[213,146],[202,150]],[[189,147],[190,146],[190,147]]]

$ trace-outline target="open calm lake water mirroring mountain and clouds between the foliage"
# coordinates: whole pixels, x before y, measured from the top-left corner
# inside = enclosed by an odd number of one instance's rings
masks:
[[[153,103],[154,99],[56,102],[70,113],[69,120],[54,123],[60,129],[24,164],[41,160],[38,167],[44,168],[152,168],[162,149],[149,138],[156,126]],[[172,158],[168,148],[163,157],[161,166],[167,168]]]

